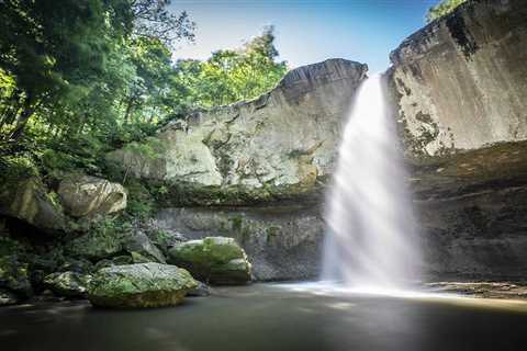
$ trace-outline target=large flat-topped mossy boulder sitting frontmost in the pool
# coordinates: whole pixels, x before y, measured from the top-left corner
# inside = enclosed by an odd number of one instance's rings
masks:
[[[99,270],[88,298],[101,307],[161,307],[181,303],[198,283],[184,269],[160,263],[115,265]]]

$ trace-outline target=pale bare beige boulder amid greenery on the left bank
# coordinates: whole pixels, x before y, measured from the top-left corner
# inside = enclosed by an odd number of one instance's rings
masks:
[[[58,195],[66,213],[74,217],[92,217],[126,208],[123,185],[97,177],[71,174],[60,182]]]

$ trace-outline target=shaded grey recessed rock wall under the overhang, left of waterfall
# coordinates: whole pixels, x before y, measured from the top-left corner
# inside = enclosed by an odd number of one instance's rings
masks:
[[[214,234],[234,238],[258,281],[315,279],[319,271],[324,223],[316,206],[167,208],[156,222],[189,239]]]

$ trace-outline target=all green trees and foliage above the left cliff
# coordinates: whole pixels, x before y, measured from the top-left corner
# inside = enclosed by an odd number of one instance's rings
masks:
[[[0,1],[0,167],[101,172],[108,150],[200,105],[250,99],[285,72],[272,29],[205,61],[172,63],[194,41],[169,0]]]

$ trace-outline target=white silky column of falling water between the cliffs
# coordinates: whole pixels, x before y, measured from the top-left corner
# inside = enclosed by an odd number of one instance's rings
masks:
[[[401,290],[418,278],[414,217],[381,75],[358,91],[326,206],[323,280],[370,291]]]

